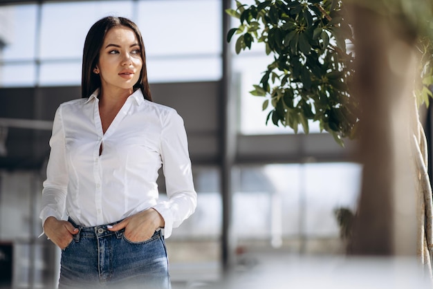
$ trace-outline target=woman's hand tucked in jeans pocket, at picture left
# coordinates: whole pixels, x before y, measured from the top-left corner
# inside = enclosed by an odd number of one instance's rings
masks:
[[[68,221],[59,221],[53,216],[46,218],[44,232],[60,249],[66,248],[73,239],[73,235],[78,233],[78,229]]]

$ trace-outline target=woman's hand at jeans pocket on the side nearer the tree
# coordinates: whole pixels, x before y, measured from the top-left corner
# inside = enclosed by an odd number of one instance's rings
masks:
[[[125,218],[108,230],[115,232],[125,228],[125,237],[129,241],[140,242],[149,240],[159,227],[164,227],[164,219],[156,209],[150,208]]]

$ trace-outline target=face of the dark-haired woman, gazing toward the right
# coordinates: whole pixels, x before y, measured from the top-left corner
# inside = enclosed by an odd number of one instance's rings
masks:
[[[102,91],[133,92],[140,78],[142,59],[140,44],[131,28],[111,28],[105,35],[96,68],[101,77]]]

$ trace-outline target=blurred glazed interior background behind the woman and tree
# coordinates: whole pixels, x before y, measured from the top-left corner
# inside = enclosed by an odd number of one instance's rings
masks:
[[[248,1],[247,1],[248,2]],[[55,288],[59,250],[38,237],[57,106],[81,97],[90,26],[129,17],[142,32],[154,101],[183,116],[199,205],[167,239],[173,288],[216,283],[261,256],[339,256],[335,209],[356,209],[361,167],[311,123],[308,135],[265,124],[248,93],[269,57],[227,44],[223,0],[0,1],[0,282]],[[159,182],[164,197],[163,176]],[[247,268],[247,269],[246,269]]]

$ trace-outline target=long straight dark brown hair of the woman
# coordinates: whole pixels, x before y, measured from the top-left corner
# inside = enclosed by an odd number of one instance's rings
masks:
[[[83,63],[82,63],[82,79],[81,79],[81,93],[82,97],[89,97],[96,88],[100,88],[101,79],[100,75],[93,73],[93,68],[98,64],[100,50],[104,43],[105,35],[114,27],[125,26],[131,28],[136,33],[138,44],[140,44],[140,53],[142,59],[142,68],[140,79],[133,85],[133,91],[138,88],[141,89],[142,94],[146,100],[152,100],[150,94],[149,83],[147,82],[146,71],[146,53],[145,44],[142,41],[141,32],[138,26],[133,21],[124,17],[104,17],[97,21],[87,32],[86,40],[84,41],[83,49]]]

